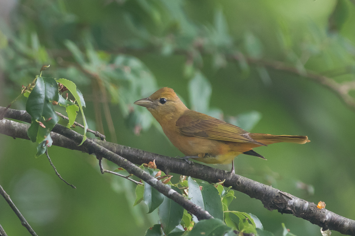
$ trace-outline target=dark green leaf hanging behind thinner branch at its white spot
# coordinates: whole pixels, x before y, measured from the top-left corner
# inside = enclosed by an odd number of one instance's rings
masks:
[[[168,184],[166,186],[180,192],[175,186],[170,186]],[[182,216],[184,215],[184,208],[170,198],[164,196],[164,201],[158,209],[158,215],[163,231],[167,235],[180,224]]]

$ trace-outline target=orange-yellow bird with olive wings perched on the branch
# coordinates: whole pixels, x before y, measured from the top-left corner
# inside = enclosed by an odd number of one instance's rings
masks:
[[[168,87],[160,88],[134,104],[148,109],[170,142],[185,155],[182,159],[189,163],[190,158],[212,164],[232,163],[232,174],[235,173],[234,158],[239,154],[266,160],[253,148],[280,142],[310,142],[307,136],[249,133],[223,120],[190,110]]]

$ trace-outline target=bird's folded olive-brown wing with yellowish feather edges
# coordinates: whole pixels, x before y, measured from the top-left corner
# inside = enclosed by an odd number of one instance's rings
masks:
[[[197,111],[186,111],[176,121],[176,126],[186,136],[264,145],[252,139],[244,129]]]

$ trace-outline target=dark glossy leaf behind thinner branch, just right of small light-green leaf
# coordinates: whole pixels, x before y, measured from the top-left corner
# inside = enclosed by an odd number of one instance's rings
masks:
[[[152,176],[155,176],[155,174],[158,173],[157,169],[154,171],[151,168],[144,168],[144,171],[148,172]],[[152,213],[160,206],[160,204],[163,203],[164,195],[158,192],[158,190],[154,189],[148,183],[144,182],[143,201],[148,206],[148,213]]]

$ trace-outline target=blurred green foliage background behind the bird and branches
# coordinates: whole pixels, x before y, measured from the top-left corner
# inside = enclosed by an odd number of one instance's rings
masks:
[[[45,77],[71,80],[82,92],[91,129],[108,133],[108,141],[177,156],[151,114],[133,105],[172,87],[189,108],[248,131],[308,135],[305,145],[258,149],[268,161],[240,155],[236,173],[324,201],[327,209],[355,219],[355,114],[301,76],[314,71],[354,83],[354,1],[2,0],[0,8],[1,106],[50,64]],[[263,63],[269,61],[297,73]],[[22,98],[12,108],[24,104]],[[49,149],[62,177],[77,186],[73,190],[47,160],[33,158],[31,142],[1,135],[0,143],[0,183],[39,235],[144,235],[157,224],[156,211],[145,214],[143,203],[133,207],[135,185],[101,176],[93,156]],[[32,187],[24,188],[26,182]],[[235,196],[231,211],[256,215],[275,235],[283,234],[281,223],[295,235],[320,235],[308,221]],[[37,201],[45,205],[30,207]],[[41,221],[43,211],[51,217]],[[27,234],[4,201],[0,224],[9,235]]]

